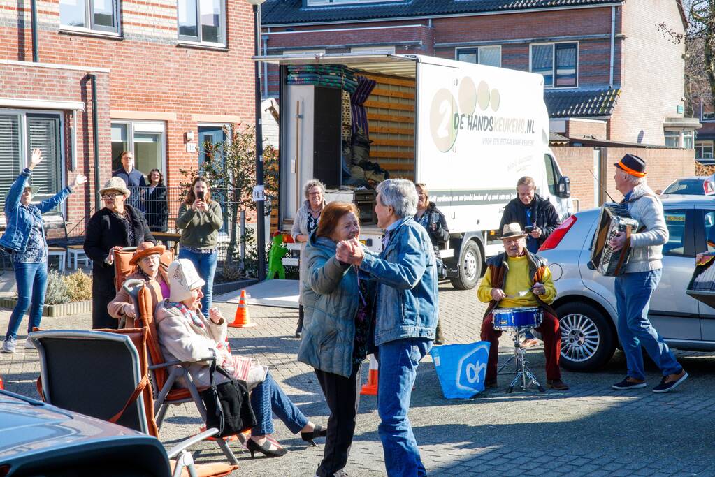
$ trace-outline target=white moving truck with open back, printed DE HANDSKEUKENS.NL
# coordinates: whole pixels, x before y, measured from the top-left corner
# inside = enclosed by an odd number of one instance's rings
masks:
[[[538,194],[562,218],[571,213],[568,178],[561,176],[548,147],[540,74],[419,55],[262,56],[257,61],[277,64],[281,71],[282,230],[290,230],[305,200],[302,186],[315,177],[326,184],[327,201],[358,205],[361,238],[380,251],[383,231],[372,211],[374,192],[345,185],[345,171],[355,159],[350,124],[359,120],[370,137],[370,161],[392,178],[425,183],[430,200],[445,214],[450,241],[440,254],[456,288],[473,288],[485,257],[503,249],[497,229],[521,176],[533,177]],[[345,66],[350,74],[375,81],[363,114],[353,108],[351,117],[350,96],[311,76],[319,69],[307,65],[337,71]]]

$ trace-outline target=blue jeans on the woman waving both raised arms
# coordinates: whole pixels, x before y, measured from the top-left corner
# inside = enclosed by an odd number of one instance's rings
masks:
[[[27,322],[27,332],[40,326],[44,296],[47,291],[47,262],[13,263],[15,280],[17,281],[17,304],[10,316],[5,338],[17,338],[22,316],[31,304],[30,319]]]

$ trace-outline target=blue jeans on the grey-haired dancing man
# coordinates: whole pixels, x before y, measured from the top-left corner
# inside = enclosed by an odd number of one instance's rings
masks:
[[[378,346],[378,433],[388,476],[426,476],[410,419],[410,395],[417,366],[432,348],[427,338],[404,338]]]

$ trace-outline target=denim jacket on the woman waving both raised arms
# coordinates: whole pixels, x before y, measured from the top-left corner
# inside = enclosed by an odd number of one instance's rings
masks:
[[[16,252],[25,251],[27,240],[30,236],[30,229],[34,221],[40,221],[41,224],[44,224],[42,214],[54,209],[72,193],[71,188],[65,187],[54,196],[41,201],[36,206],[30,205],[29,207],[22,207],[20,206],[20,197],[25,190],[27,179],[30,178],[30,175],[30,169],[23,169],[12,184],[5,199],[5,220],[7,227],[5,233],[0,237],[0,246]],[[34,218],[30,214],[32,214]]]

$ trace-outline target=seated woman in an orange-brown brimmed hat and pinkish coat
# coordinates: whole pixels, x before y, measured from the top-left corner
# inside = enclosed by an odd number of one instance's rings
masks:
[[[124,278],[127,280],[142,280],[144,283],[155,282],[156,287],[149,287],[152,293],[154,306],[164,298],[169,298],[169,276],[167,266],[161,262],[162,255],[166,251],[163,245],[154,245],[152,242],[139,243],[137,251],[132,255],[129,265],[137,266],[137,271]],[[134,318],[137,318],[137,310],[134,309],[134,302],[124,288],[119,288],[117,296],[107,305],[107,311],[112,318],[121,320],[125,318],[124,327],[132,328]]]

